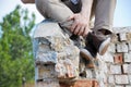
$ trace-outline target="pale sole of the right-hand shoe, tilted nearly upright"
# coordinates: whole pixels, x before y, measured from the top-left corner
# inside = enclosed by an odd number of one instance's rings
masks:
[[[105,52],[107,51],[107,49],[108,49],[108,47],[109,47],[109,44],[110,44],[110,38],[107,38],[102,45],[100,45],[100,47],[99,47],[99,51],[98,51],[98,53],[100,54],[100,55],[104,55],[105,54]]]

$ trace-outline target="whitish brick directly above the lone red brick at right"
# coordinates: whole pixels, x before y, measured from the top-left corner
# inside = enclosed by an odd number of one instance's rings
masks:
[[[117,52],[128,52],[128,46],[126,42],[118,42],[117,44]]]

